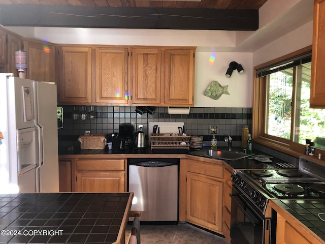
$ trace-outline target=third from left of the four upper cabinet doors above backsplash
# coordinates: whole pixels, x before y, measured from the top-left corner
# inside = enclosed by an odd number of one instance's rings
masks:
[[[132,49],[132,103],[160,104],[161,49]]]

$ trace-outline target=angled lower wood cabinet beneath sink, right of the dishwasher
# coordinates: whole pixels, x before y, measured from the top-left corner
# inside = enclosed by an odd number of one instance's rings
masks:
[[[222,233],[223,167],[187,160],[186,221]]]

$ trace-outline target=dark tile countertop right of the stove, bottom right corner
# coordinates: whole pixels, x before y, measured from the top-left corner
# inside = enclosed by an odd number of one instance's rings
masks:
[[[325,241],[325,201],[273,200]],[[320,214],[320,215],[319,215]],[[319,216],[318,216],[319,215]]]

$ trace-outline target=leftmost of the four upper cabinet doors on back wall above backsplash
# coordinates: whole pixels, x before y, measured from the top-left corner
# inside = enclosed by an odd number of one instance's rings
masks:
[[[92,65],[90,47],[61,47],[59,58],[59,96],[61,103],[92,102]]]

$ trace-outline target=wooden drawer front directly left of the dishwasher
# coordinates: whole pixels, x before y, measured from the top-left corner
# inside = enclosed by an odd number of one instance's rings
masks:
[[[77,161],[77,171],[123,171],[124,162],[124,159],[79,160]]]

